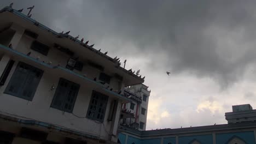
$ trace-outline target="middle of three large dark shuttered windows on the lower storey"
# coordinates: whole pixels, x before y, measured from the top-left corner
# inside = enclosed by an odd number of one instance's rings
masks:
[[[60,78],[51,107],[72,113],[80,85]]]

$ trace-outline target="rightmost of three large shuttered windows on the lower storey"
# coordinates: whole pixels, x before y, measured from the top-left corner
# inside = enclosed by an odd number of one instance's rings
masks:
[[[92,91],[90,105],[87,111],[87,118],[94,119],[99,122],[103,122],[106,107],[108,103],[108,96]]]

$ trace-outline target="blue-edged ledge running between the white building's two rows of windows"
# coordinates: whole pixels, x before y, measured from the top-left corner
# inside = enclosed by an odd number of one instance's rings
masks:
[[[60,65],[53,66],[49,63],[41,62],[37,58],[27,56],[24,53],[10,49],[9,47],[4,46],[2,44],[0,44],[0,55],[1,54],[8,55],[10,58],[13,58],[15,61],[22,61],[22,62],[31,64],[31,65],[34,65],[39,69],[47,71],[47,73],[51,73],[51,74],[59,76],[59,77],[68,77],[69,79],[72,79],[75,82],[83,83],[84,85],[86,85],[88,87],[94,88],[98,92],[109,95],[110,97],[115,97],[115,98],[121,99],[121,101],[123,103],[127,103],[127,102],[131,101],[129,98],[126,98],[121,94],[118,94],[119,92],[110,91],[104,85],[102,85],[102,83],[100,83],[100,82],[91,80],[84,75],[75,73],[74,71],[63,68]]]

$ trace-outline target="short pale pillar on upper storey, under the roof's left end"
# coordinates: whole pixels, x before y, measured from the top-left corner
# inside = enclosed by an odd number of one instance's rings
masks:
[[[13,35],[13,38],[10,41],[10,44],[13,46],[13,49],[16,49],[16,47],[20,43],[22,35],[24,34],[25,28],[20,27],[15,23],[13,23],[13,25],[11,25],[10,28],[15,31],[15,34]]]

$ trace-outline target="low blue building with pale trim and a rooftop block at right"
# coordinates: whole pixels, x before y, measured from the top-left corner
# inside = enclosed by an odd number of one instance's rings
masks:
[[[256,110],[248,104],[232,107],[232,112],[225,113],[228,124],[146,131],[120,126],[119,141],[121,144],[255,144]]]

